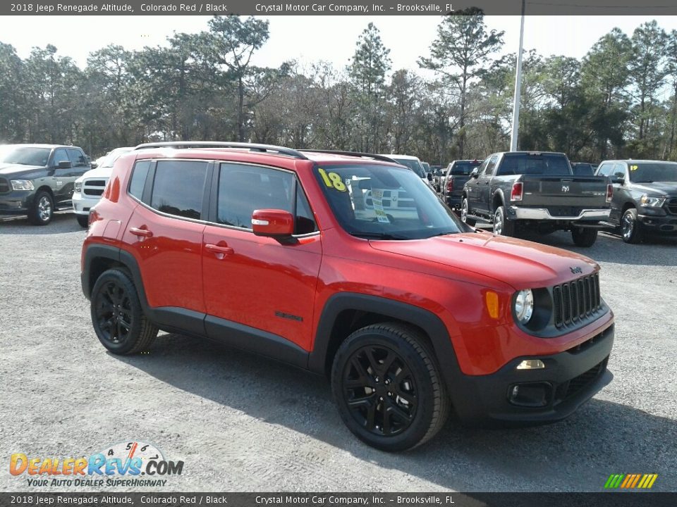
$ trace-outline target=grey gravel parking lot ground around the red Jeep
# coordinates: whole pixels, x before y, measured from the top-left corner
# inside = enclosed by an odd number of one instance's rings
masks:
[[[36,490],[8,473],[12,453],[135,440],[185,462],[164,491],[597,492],[611,473],[657,473],[654,490],[677,491],[675,242],[605,233],[576,249],[602,265],[616,313],[614,381],[578,413],[521,430],[450,420],[432,443],[387,454],[348,432],[322,377],[176,334],[146,355],[106,353],[80,289],[84,237],[71,213],[0,222],[2,491]],[[541,241],[572,249],[569,234]]]

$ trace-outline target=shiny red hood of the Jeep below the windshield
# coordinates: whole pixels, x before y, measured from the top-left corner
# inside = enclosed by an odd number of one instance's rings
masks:
[[[470,271],[515,289],[549,287],[594,273],[599,265],[553,246],[468,232],[410,241],[370,241],[372,248]],[[440,272],[443,275],[443,272]]]

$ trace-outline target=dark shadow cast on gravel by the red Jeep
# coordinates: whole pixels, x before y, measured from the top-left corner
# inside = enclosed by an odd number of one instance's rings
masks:
[[[611,473],[658,473],[662,484],[654,490],[677,489],[674,471],[664,469],[677,453],[675,420],[601,399],[541,427],[480,430],[450,418],[432,442],[390,454],[350,434],[324,377],[178,334],[161,335],[147,355],[111,357],[190,394],[456,491],[542,484],[544,492],[599,492]]]

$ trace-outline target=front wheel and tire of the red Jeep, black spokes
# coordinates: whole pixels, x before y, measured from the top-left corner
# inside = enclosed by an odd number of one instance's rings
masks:
[[[355,437],[390,452],[432,439],[451,403],[425,339],[398,323],[350,334],[336,351],[331,390]]]

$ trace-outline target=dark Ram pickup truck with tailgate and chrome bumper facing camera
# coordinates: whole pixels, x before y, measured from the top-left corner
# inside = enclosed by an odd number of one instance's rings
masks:
[[[609,220],[612,192],[606,177],[574,175],[564,154],[496,153],[470,173],[461,220],[493,223],[504,236],[569,230],[576,245],[592,246]]]

